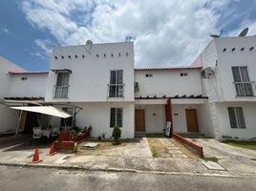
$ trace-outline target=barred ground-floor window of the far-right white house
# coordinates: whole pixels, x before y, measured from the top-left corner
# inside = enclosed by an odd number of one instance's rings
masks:
[[[245,119],[242,107],[228,107],[230,127],[235,129],[245,129]]]

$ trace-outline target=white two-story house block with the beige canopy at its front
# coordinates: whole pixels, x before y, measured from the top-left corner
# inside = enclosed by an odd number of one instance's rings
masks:
[[[74,114],[76,106],[72,125],[92,125],[93,137],[109,138],[118,125],[122,138],[134,138],[133,42],[54,47],[51,60],[45,102]]]

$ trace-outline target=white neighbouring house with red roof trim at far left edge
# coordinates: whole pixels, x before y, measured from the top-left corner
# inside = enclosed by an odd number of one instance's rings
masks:
[[[0,57],[0,133],[13,131],[17,127],[18,113],[9,108],[11,105],[23,105],[20,99],[44,97],[47,72],[33,73],[18,67],[11,61]]]

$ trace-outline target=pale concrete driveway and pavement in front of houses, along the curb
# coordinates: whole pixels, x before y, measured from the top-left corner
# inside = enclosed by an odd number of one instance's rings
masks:
[[[199,158],[175,157],[170,150],[171,158],[153,158],[147,138],[136,138],[124,146],[105,150],[94,154],[65,154],[57,153],[47,156],[49,145],[38,145],[41,162],[32,164],[32,154],[35,145],[30,144],[31,138],[1,138],[0,165],[33,165],[54,168],[79,168],[87,170],[111,170],[129,172],[158,172],[158,173],[189,173],[189,174],[221,174],[229,175],[228,171],[210,170],[203,165]],[[168,138],[160,138],[164,145]],[[170,145],[164,145],[170,147]],[[176,149],[175,149],[176,151]],[[176,151],[177,152],[177,151]],[[224,160],[225,161],[225,160]]]

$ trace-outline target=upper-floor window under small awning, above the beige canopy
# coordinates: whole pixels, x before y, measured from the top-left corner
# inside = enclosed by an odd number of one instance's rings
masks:
[[[69,73],[58,73],[56,85],[54,86],[54,98],[68,98]]]

